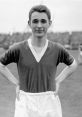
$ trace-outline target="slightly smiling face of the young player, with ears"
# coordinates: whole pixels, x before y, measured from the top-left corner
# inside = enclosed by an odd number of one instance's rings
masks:
[[[29,21],[29,26],[32,29],[32,33],[35,37],[44,37],[48,28],[51,25],[51,21],[48,19],[46,13],[33,12]]]

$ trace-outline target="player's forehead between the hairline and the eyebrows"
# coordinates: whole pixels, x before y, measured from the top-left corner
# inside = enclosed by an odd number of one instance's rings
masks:
[[[48,20],[48,16],[46,13],[42,12],[33,12],[32,15],[31,15],[31,20],[33,19],[46,19]]]

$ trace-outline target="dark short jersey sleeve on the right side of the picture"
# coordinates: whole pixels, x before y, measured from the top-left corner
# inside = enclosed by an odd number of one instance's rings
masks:
[[[62,45],[60,45],[57,64],[65,63],[66,65],[71,65],[73,61],[74,57]]]

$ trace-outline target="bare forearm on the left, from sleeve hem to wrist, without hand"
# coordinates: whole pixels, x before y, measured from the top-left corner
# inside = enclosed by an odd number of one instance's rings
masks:
[[[9,69],[5,67],[2,63],[0,63],[0,73],[16,86],[19,85],[19,81],[14,77],[14,75],[9,71]]]

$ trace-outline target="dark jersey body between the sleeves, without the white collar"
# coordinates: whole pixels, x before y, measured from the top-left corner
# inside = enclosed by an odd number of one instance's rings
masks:
[[[22,55],[18,63],[20,88],[27,92],[55,90],[57,56],[57,50],[51,42],[48,43],[39,61],[29,46],[22,48]]]

